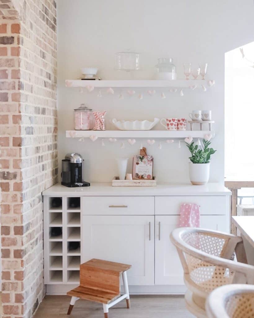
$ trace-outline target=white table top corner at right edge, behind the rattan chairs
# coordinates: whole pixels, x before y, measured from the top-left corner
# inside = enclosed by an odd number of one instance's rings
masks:
[[[232,217],[234,225],[254,248],[254,216]]]

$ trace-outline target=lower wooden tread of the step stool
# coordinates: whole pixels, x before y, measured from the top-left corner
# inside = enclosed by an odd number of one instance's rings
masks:
[[[109,290],[100,290],[84,286],[78,286],[67,293],[68,296],[79,297],[85,300],[96,301],[108,304],[120,296],[120,293],[114,293]]]

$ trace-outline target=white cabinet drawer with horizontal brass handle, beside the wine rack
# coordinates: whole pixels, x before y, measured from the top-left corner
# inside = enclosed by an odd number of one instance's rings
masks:
[[[154,215],[154,197],[83,197],[83,215]]]

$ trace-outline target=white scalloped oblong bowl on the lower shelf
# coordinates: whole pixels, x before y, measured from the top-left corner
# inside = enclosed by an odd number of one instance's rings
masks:
[[[159,118],[154,118],[154,121],[117,121],[116,118],[113,118],[112,123],[120,130],[150,130],[159,122],[159,120]]]

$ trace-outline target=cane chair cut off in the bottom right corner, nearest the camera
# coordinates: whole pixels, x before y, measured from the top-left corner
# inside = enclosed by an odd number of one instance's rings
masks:
[[[205,308],[209,318],[254,318],[254,285],[216,288],[208,296]]]

